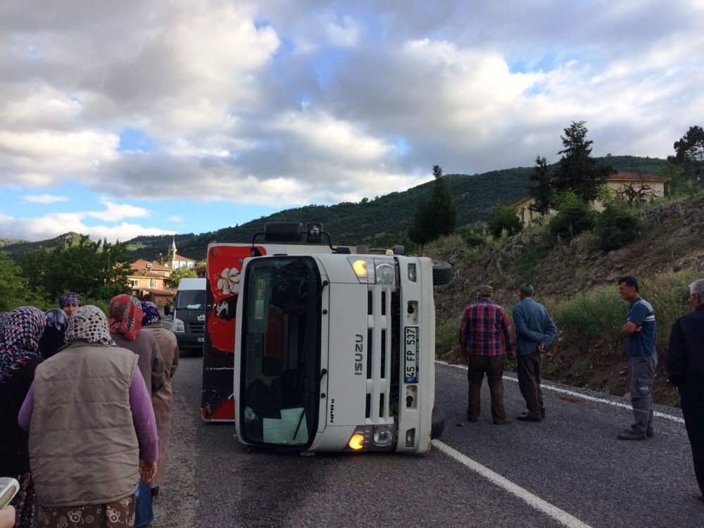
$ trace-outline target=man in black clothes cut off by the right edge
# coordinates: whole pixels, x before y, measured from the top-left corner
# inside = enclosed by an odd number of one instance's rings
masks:
[[[667,377],[679,389],[692,446],[698,498],[704,501],[704,279],[689,285],[690,313],[674,322],[667,349]]]

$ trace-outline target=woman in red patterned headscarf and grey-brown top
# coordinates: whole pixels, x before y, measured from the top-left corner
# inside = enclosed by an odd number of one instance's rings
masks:
[[[139,371],[149,394],[154,396],[164,384],[164,362],[154,336],[140,332],[143,315],[137,298],[127,294],[113,297],[108,307],[108,324],[115,344],[139,356]]]

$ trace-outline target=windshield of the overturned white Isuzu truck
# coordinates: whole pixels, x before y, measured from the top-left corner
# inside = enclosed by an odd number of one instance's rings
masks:
[[[318,425],[320,275],[310,257],[247,267],[241,346],[241,434],[304,447]]]

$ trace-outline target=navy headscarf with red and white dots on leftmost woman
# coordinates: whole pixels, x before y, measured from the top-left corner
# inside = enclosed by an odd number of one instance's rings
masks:
[[[15,308],[2,319],[0,328],[0,384],[7,383],[23,364],[39,354],[39,338],[46,316],[32,306]]]

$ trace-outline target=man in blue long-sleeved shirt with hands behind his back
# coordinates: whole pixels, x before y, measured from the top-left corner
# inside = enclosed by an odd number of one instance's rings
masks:
[[[516,329],[516,365],[518,388],[526,401],[528,412],[517,417],[522,422],[540,422],[545,418],[540,373],[543,367],[541,353],[558,334],[558,327],[541,303],[533,300],[530,284],[518,288],[518,303],[513,307],[513,325]]]

